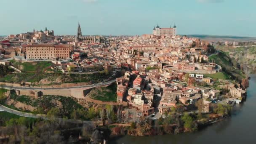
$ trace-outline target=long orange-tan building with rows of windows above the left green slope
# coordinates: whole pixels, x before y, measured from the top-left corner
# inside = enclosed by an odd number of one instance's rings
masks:
[[[37,59],[68,59],[72,45],[25,45],[26,56],[29,60]]]

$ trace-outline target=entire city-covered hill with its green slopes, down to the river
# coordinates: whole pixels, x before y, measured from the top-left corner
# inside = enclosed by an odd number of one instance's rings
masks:
[[[176,24],[156,24],[141,36],[83,31],[78,24],[75,36],[45,28],[0,38],[0,110],[145,136],[196,131],[246,97],[248,81],[237,61],[216,43],[177,35]],[[163,131],[151,131],[156,125]]]

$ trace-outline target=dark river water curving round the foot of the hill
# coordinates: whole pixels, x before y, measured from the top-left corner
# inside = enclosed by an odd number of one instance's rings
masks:
[[[195,133],[121,136],[110,144],[256,144],[256,75],[251,75],[247,99],[234,107],[232,117]]]

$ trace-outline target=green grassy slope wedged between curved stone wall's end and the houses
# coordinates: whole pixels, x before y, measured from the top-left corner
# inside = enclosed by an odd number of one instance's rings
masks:
[[[99,101],[117,101],[117,84],[113,83],[107,87],[93,88],[88,96]]]

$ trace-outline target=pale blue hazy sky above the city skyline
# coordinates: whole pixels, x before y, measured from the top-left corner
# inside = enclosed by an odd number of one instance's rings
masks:
[[[179,35],[256,37],[256,0],[0,0],[0,35],[54,30],[75,35],[151,34],[177,26]]]

